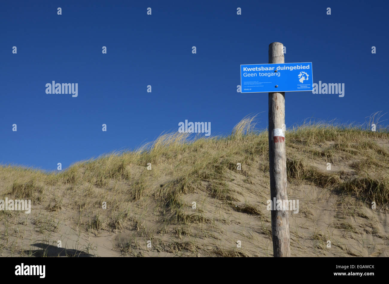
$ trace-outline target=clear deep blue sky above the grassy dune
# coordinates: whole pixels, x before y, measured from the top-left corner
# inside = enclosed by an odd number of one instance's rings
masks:
[[[178,131],[185,119],[210,122],[214,136],[260,113],[265,128],[268,94],[240,94],[237,85],[240,64],[268,63],[272,42],[286,46],[285,62],[312,62],[314,83],[345,84],[344,97],[286,92],[287,127],[310,117],[362,123],[389,110],[388,8],[387,1],[2,1],[0,163],[65,169]],[[53,80],[78,83],[78,97],[46,94]]]

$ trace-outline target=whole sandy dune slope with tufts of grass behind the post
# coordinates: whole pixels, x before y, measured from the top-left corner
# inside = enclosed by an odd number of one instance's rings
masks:
[[[0,167],[0,199],[32,200],[30,214],[0,211],[0,255],[272,256],[267,133],[237,129],[194,143],[166,135],[148,152],[59,174]],[[389,256],[388,137],[287,132],[288,197],[299,200],[289,212],[292,256]]]

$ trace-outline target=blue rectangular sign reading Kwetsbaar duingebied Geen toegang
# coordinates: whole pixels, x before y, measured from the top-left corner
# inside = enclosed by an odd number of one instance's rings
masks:
[[[312,62],[241,65],[240,86],[242,94],[312,91]]]

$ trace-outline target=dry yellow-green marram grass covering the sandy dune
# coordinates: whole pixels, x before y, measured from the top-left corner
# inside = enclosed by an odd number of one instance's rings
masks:
[[[368,123],[374,119],[377,114]],[[323,122],[292,127],[286,132],[288,182],[296,186],[311,184],[340,196],[355,197],[366,207],[375,201],[385,212],[389,204],[389,151],[377,141],[387,142],[388,138],[389,133],[382,127],[377,132]],[[322,171],[312,166],[312,159],[324,165],[354,159],[350,163],[354,176],[345,178],[347,175],[341,171]],[[148,163],[152,170],[147,170]],[[236,169],[237,163],[242,164],[242,171]],[[46,242],[54,232],[60,232],[61,224],[72,227],[80,236],[103,231],[136,232],[131,241],[117,244],[124,255],[145,255],[147,248],[140,240],[159,236],[168,237],[158,246],[159,252],[167,254],[185,251],[189,255],[247,256],[247,251],[237,250],[235,241],[216,248],[216,242],[208,246],[198,236],[224,240],[223,224],[242,223],[229,217],[234,211],[240,214],[237,216],[260,220],[259,234],[271,238],[270,221],[263,211],[266,205],[238,202],[247,194],[258,197],[255,189],[268,184],[266,171],[268,132],[255,129],[255,116],[244,118],[227,137],[197,136],[189,140],[186,133],[164,134],[133,152],[103,155],[60,173],[1,166],[0,199],[32,199],[36,208],[53,215],[21,221],[25,218],[21,214],[0,211],[4,229],[0,233],[0,253],[24,249],[20,243],[10,241],[10,231],[25,222],[32,223]],[[263,175],[260,180],[259,173]],[[208,200],[208,208],[204,205],[202,209],[203,203],[198,202],[198,208],[193,209],[188,196],[197,201],[202,196]],[[102,208],[103,202],[106,209]],[[180,234],[177,226],[184,228],[179,230]],[[337,223],[335,228],[357,230],[346,222]],[[14,239],[20,237],[15,235]],[[321,235],[314,239],[324,241]]]

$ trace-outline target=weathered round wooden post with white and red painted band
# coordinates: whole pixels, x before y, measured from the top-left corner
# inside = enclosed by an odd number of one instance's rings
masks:
[[[283,47],[280,42],[270,43],[269,63],[284,63]],[[274,198],[282,202],[288,200],[284,125],[285,92],[269,93],[269,166],[272,203]],[[274,257],[290,256],[288,211],[272,209],[273,255]]]

